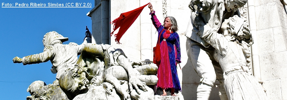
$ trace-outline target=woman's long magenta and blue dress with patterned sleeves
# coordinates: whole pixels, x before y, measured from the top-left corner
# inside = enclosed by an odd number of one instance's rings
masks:
[[[150,13],[150,15],[152,15],[152,23],[158,31],[158,39],[160,39],[161,60],[158,65],[157,87],[166,89],[166,91],[174,88],[174,93],[179,93],[181,87],[176,63],[176,61],[180,62],[181,59],[179,35],[176,32],[166,32],[167,30],[158,21],[154,12]]]

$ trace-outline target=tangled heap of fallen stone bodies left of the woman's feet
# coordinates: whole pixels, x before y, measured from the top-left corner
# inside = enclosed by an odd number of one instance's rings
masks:
[[[69,99],[80,100],[92,95],[95,100],[102,96],[106,99],[122,98],[126,100],[130,99],[130,92],[133,90],[138,95],[133,94],[132,96],[145,98],[143,96],[147,95],[140,94],[153,94],[154,91],[148,91],[150,88],[147,85],[155,85],[157,77],[142,75],[143,73],[139,71],[146,74],[155,73],[157,67],[150,64],[133,68],[134,65],[139,66],[141,63],[130,62],[121,49],[114,49],[111,45],[87,43],[75,67],[60,76],[59,85]],[[125,82],[120,82],[120,80],[128,82],[124,85]],[[117,93],[113,88],[120,95],[115,95]],[[96,93],[95,90],[105,93]]]

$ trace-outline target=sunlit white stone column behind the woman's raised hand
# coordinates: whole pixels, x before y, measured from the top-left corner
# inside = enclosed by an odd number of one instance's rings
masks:
[[[140,0],[140,6],[143,6],[151,0]],[[152,21],[150,15],[146,12],[150,12],[150,9],[146,7],[143,9],[140,17],[140,32],[141,32],[141,60],[150,59],[152,61]]]

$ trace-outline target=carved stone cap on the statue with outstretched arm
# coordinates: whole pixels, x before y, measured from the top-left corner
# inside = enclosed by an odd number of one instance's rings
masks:
[[[67,37],[63,37],[61,34],[57,33],[56,31],[51,31],[46,33],[43,37],[43,45],[51,45],[54,40],[61,40],[62,42],[68,41]]]

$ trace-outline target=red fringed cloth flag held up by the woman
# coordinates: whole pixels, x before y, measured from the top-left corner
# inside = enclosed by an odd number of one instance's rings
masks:
[[[149,4],[149,3],[148,3]],[[115,19],[112,24],[114,24],[113,32],[110,33],[110,36],[113,35],[114,31],[116,29],[119,29],[119,32],[115,34],[115,41],[117,43],[120,43],[119,40],[121,37],[124,35],[124,33],[129,29],[129,27],[135,22],[135,19],[139,16],[141,11],[146,7],[148,4],[141,6],[137,9],[134,9],[132,11],[126,12],[126,13],[121,13],[120,17]]]

